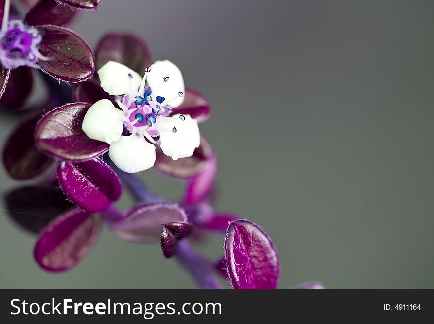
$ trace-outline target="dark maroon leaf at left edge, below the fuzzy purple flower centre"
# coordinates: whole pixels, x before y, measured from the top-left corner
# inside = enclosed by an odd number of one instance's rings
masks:
[[[10,72],[7,88],[1,97],[1,105],[9,108],[21,108],[32,91],[33,74],[29,67],[18,67]]]

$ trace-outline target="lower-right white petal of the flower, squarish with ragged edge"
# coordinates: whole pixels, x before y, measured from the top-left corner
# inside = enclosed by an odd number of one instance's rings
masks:
[[[184,120],[180,116],[183,116]],[[163,117],[155,126],[160,133],[161,150],[173,160],[189,157],[193,155],[194,149],[199,147],[199,126],[190,115]]]

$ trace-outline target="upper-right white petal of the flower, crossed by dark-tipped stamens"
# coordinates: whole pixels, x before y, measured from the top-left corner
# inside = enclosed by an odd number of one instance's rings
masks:
[[[185,86],[180,69],[169,60],[156,61],[151,68],[146,80],[152,90],[152,99],[157,100],[157,96],[164,97],[162,105],[169,105],[171,108],[181,105],[184,98],[178,93],[184,94]],[[164,79],[167,77],[167,82],[165,82]]]

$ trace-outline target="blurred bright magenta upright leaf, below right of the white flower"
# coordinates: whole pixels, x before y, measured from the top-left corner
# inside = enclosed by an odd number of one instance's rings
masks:
[[[184,201],[197,204],[208,198],[217,176],[217,157],[208,159],[202,172],[188,180]]]

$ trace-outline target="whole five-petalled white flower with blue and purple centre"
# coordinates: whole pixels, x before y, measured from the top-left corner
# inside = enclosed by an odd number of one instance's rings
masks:
[[[141,78],[125,65],[109,61],[98,76],[106,92],[122,96],[116,100],[120,109],[107,99],[99,100],[87,111],[82,129],[89,138],[110,144],[109,156],[119,169],[135,173],[151,168],[154,144],[173,160],[189,157],[199,147],[197,122],[190,115],[171,115],[171,109],[182,104],[185,91],[175,64],[156,61]]]

